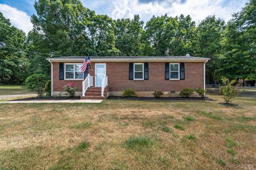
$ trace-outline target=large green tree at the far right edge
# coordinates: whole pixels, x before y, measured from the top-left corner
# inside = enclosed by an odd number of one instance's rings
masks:
[[[220,71],[229,78],[256,78],[256,1],[251,0],[228,22]]]

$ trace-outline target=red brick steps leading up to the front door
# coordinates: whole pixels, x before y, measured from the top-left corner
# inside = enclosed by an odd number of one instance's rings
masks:
[[[81,96],[81,99],[107,99],[107,92],[109,87],[105,87],[104,96],[101,96],[101,87],[89,87],[85,92],[85,96]]]

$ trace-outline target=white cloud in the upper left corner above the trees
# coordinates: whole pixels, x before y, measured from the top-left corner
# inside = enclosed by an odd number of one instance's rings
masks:
[[[13,26],[23,30],[26,34],[33,28],[27,13],[6,4],[0,4],[0,11],[5,18],[10,19]]]

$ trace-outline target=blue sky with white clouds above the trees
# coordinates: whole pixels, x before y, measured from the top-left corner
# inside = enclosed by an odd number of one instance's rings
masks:
[[[0,12],[13,26],[27,34],[33,25],[30,16],[36,13],[34,0],[0,0]],[[113,19],[133,18],[139,14],[147,22],[153,15],[175,17],[190,15],[198,23],[209,15],[228,21],[233,13],[242,9],[247,0],[81,0],[83,5],[97,14],[107,14]]]

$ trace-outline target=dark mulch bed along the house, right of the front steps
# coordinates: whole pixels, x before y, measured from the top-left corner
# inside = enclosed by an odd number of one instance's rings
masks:
[[[181,98],[181,97],[164,97],[164,98],[146,98],[146,97],[122,97],[122,96],[109,96],[111,100],[209,100],[215,101],[211,98]]]

